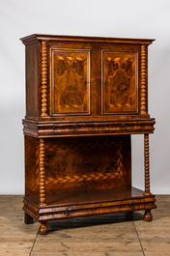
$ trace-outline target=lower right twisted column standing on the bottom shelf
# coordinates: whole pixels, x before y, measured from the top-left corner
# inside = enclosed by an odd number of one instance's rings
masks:
[[[145,163],[145,192],[144,192],[144,195],[151,195],[151,192],[150,192],[149,134],[144,134],[144,163]]]

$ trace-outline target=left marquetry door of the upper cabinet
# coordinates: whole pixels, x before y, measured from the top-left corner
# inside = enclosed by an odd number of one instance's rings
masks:
[[[51,115],[90,114],[90,50],[50,52]]]

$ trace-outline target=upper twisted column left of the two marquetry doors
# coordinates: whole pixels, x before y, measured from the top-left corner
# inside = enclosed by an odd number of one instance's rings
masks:
[[[47,114],[47,57],[46,42],[42,42],[42,117]]]

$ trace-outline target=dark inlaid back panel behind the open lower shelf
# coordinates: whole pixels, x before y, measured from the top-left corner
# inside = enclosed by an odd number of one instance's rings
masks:
[[[47,194],[130,185],[128,135],[45,140]]]

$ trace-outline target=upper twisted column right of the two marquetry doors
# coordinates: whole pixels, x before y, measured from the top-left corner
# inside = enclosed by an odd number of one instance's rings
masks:
[[[147,110],[147,51],[146,46],[141,45],[141,99],[140,99],[140,114],[148,116]]]

